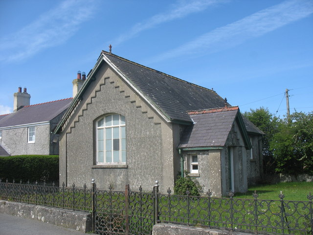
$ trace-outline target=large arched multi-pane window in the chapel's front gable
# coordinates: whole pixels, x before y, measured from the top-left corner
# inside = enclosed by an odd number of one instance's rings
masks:
[[[97,128],[97,164],[126,164],[125,117],[112,114],[100,118]]]

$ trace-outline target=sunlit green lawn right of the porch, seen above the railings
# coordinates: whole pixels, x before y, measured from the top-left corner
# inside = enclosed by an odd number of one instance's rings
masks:
[[[257,185],[248,188],[246,193],[236,193],[235,198],[251,199],[254,190],[261,200],[280,200],[280,191],[285,195],[287,201],[309,201],[307,196],[311,192],[313,195],[313,182],[288,182],[273,185]]]

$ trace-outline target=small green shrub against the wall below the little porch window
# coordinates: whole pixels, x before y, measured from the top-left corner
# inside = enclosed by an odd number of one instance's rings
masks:
[[[175,181],[174,191],[176,195],[187,195],[186,191],[188,190],[189,195],[200,196],[199,187],[199,184],[192,181],[188,175],[185,177],[178,176]]]

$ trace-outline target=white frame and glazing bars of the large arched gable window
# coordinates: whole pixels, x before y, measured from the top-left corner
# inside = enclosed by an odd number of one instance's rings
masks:
[[[118,124],[113,124],[113,116],[119,116]],[[111,125],[106,124],[106,118],[110,118],[112,120]],[[103,121],[102,125],[99,126],[100,121]],[[114,133],[113,128],[118,128],[118,139],[113,139]],[[111,129],[110,136],[107,135],[107,129]],[[108,131],[109,132],[109,131]],[[108,137],[111,137],[109,139]],[[118,145],[114,144],[118,142]],[[118,140],[118,141],[117,141]],[[110,143],[110,147],[107,147],[107,142]],[[114,150],[117,148],[118,150]],[[96,120],[96,164],[97,165],[106,165],[106,164],[126,164],[126,124],[125,124],[125,117],[120,114],[109,114],[102,116]],[[108,150],[109,149],[109,150]],[[116,160],[116,155],[114,156],[114,152],[118,153],[118,161]],[[110,153],[111,152],[111,153]],[[110,153],[110,154],[109,154]]]

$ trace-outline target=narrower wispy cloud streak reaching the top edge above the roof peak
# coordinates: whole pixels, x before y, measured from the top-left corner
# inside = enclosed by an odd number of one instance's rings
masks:
[[[201,12],[209,6],[214,6],[227,1],[229,0],[193,0],[193,1],[180,0],[177,4],[173,5],[172,9],[170,9],[169,11],[159,13],[145,20],[142,23],[135,24],[129,31],[120,35],[115,40],[112,40],[112,42],[114,42],[114,46],[119,45],[131,38],[134,38],[140,32],[153,28],[158,24],[183,18],[192,13]]]

